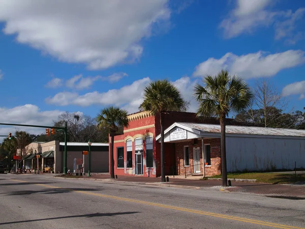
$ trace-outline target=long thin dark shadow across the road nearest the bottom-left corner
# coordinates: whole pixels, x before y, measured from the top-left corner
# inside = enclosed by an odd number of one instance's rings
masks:
[[[0,223],[0,225],[35,222],[35,221],[43,221],[43,220],[69,219],[69,218],[78,218],[78,217],[91,218],[91,217],[101,217],[101,216],[128,215],[128,214],[135,214],[135,213],[140,213],[140,212],[115,212],[115,213],[93,213],[93,214],[85,214],[85,215],[71,215],[71,216],[61,216],[61,217],[44,218],[44,219],[31,219],[31,220],[20,220],[20,221],[12,221],[12,222],[2,222],[2,223]]]

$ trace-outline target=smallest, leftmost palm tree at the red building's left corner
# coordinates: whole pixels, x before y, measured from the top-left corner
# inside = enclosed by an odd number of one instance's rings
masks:
[[[108,129],[111,136],[110,146],[110,177],[114,179],[113,141],[114,134],[120,127],[128,127],[127,111],[119,107],[107,107],[100,111],[97,116],[98,128]]]

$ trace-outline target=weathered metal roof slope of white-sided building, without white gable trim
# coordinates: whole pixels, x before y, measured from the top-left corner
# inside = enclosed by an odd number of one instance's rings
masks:
[[[220,133],[220,125],[201,123],[177,123],[201,132]],[[226,126],[226,133],[230,134],[255,134],[255,135],[277,135],[277,136],[298,136],[305,137],[305,130],[253,127],[253,126]]]

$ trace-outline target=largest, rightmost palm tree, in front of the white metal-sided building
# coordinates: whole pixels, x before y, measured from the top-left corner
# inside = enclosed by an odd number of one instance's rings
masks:
[[[226,70],[221,70],[216,76],[207,75],[203,82],[205,87],[197,83],[194,90],[199,102],[197,116],[220,119],[222,184],[227,186],[226,116],[231,110],[239,113],[250,107],[253,93],[240,77],[231,77]]]

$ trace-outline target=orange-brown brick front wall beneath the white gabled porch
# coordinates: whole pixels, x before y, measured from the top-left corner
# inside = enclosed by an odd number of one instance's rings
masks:
[[[220,138],[204,139],[204,144],[210,144],[211,147],[211,165],[205,166],[205,176],[214,176],[221,174],[221,152],[220,152]],[[184,161],[184,147],[189,147],[190,166],[185,167]],[[176,174],[192,174],[194,172],[194,148],[200,150],[200,171],[203,172],[203,160],[202,160],[202,147],[201,140],[193,144],[192,140],[178,142],[175,144],[176,151]]]

